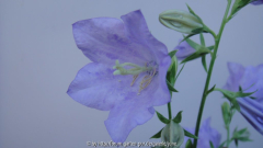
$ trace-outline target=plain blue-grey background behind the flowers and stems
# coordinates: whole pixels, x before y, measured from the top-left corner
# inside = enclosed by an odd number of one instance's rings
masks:
[[[0,1],[0,147],[85,148],[87,141],[110,141],[104,126],[108,112],[88,109],[66,91],[77,71],[90,62],[77,48],[71,24],[98,16],[119,18],[140,9],[148,26],[172,50],[182,34],[163,27],[158,14],[168,9],[186,10],[185,3],[218,32],[227,0],[1,0]],[[227,61],[244,66],[261,64],[263,55],[263,5],[248,5],[227,24],[219,46],[211,84],[222,87],[229,76]],[[207,45],[213,44],[205,35]],[[198,37],[194,37],[198,41]],[[178,80],[173,115],[183,110],[182,125],[194,127],[206,73],[201,59],[188,62]],[[220,93],[211,93],[203,119],[222,134]],[[156,107],[167,115],[167,106]],[[239,113],[232,126],[248,127],[252,143],[240,148],[260,148],[260,135]],[[135,128],[127,141],[148,141],[163,127],[155,115]],[[231,147],[235,147],[233,145]]]

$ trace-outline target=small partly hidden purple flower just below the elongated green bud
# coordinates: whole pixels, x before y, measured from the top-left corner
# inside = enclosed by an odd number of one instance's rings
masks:
[[[180,39],[179,43],[181,41],[182,39]],[[196,52],[193,47],[188,45],[186,41],[183,41],[182,43],[180,43],[174,49],[178,50],[175,56],[178,57],[179,60],[183,60]]]

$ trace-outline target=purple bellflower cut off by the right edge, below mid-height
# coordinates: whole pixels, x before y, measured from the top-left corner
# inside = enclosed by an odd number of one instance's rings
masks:
[[[240,112],[244,118],[263,135],[263,65],[258,67],[249,66],[244,68],[240,64],[228,62],[230,76],[225,89],[239,91],[239,87],[244,92],[254,92],[254,98],[238,98]]]

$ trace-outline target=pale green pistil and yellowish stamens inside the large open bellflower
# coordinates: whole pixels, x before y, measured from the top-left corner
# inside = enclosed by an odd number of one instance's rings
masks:
[[[132,68],[126,69],[124,68],[125,66],[129,66]],[[139,91],[137,93],[139,95],[141,90],[146,89],[150,84],[152,78],[157,75],[158,71],[156,66],[156,62],[146,62],[146,65],[141,67],[132,62],[119,64],[119,61],[116,60],[115,66],[113,67],[113,69],[116,70],[113,72],[113,75],[133,75],[134,79],[130,83],[130,87],[133,87],[139,73],[147,72],[147,75],[140,81]]]

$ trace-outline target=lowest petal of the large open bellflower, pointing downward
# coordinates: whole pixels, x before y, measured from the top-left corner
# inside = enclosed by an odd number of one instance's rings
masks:
[[[111,110],[105,126],[115,143],[125,141],[133,128],[146,123],[153,116],[155,110],[145,106],[145,104],[144,99],[134,98],[121,102]]]

